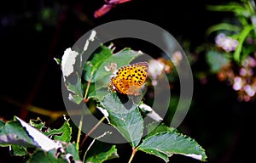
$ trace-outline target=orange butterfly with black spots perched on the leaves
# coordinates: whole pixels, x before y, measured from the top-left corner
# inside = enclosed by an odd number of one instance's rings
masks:
[[[138,62],[133,65],[125,65],[119,68],[111,77],[113,90],[127,95],[140,95],[148,76],[148,62]]]

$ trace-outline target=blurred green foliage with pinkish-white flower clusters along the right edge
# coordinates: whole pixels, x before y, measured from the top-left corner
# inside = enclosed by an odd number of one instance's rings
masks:
[[[239,101],[256,98],[255,52],[256,52],[256,6],[253,1],[207,6],[215,12],[230,12],[217,25],[207,30],[214,43],[199,46],[197,53],[205,53],[210,70],[197,72],[202,80],[212,74],[221,82],[227,82],[237,92]],[[204,80],[206,82],[206,80]]]

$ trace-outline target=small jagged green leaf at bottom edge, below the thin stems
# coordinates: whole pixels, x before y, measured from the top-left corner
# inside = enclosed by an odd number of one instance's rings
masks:
[[[109,147],[106,143],[96,141],[89,150],[85,162],[102,163],[114,158],[119,158],[115,145]]]

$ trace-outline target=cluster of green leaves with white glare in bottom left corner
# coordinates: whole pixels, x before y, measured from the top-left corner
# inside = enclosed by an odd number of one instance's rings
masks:
[[[49,132],[41,132],[44,122],[40,119],[31,120],[29,124],[25,125],[24,121],[15,117],[14,121],[8,121],[3,124],[1,122],[0,129],[0,145],[11,146],[13,155],[25,156],[29,155],[27,162],[68,162],[70,160],[79,160],[79,151],[75,148],[75,143],[70,143],[71,140],[71,127],[69,120],[64,121],[64,124],[59,129],[49,130]],[[37,126],[35,128],[34,126]],[[45,126],[44,126],[45,127]],[[38,132],[38,133],[35,133]],[[47,133],[47,134],[46,134]],[[59,143],[47,138],[46,135],[59,134],[60,136],[54,137]],[[46,139],[43,139],[43,138]],[[44,142],[40,142],[40,139]],[[54,143],[53,149],[45,149],[46,146],[51,146]],[[44,144],[44,145],[42,145]],[[34,152],[28,152],[34,149]]]

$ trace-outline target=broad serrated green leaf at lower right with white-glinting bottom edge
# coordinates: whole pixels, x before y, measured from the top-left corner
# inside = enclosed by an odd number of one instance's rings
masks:
[[[160,132],[151,137],[145,138],[138,150],[156,155],[165,160],[173,154],[186,155],[197,160],[206,161],[205,150],[195,142],[194,139],[177,132]]]

